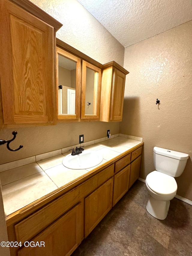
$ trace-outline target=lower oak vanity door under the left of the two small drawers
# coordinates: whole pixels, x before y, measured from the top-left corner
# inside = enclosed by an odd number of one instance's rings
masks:
[[[129,164],[123,168],[119,173],[114,175],[114,185],[113,185],[113,206],[122,198],[122,196],[129,189],[129,177],[130,177]]]

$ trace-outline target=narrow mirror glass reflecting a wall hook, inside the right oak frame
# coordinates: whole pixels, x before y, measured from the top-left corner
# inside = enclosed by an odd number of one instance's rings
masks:
[[[86,67],[85,115],[97,114],[98,72]]]

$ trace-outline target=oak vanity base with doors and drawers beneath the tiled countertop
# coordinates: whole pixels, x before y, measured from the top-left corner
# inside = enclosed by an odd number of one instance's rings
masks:
[[[9,241],[45,242],[45,248],[10,248],[11,256],[70,255],[138,179],[142,146],[139,142],[8,215]]]

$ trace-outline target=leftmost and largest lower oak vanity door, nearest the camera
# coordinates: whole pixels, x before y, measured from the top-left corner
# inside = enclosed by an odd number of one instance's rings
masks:
[[[81,242],[81,214],[79,203],[29,241],[33,241],[32,245],[43,241],[45,246],[23,247],[18,250],[18,256],[70,255]]]

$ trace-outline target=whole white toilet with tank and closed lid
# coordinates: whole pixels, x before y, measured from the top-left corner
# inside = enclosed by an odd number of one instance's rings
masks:
[[[155,171],[146,177],[146,188],[150,194],[146,208],[155,218],[164,220],[167,217],[170,200],[177,192],[177,183],[173,177],[182,174],[188,158],[188,154],[154,147]]]

